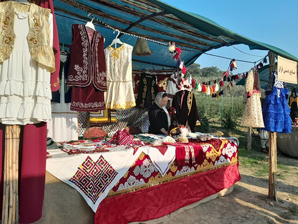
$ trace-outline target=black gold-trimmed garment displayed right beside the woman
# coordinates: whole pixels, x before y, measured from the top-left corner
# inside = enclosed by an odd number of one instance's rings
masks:
[[[194,127],[201,125],[196,99],[192,92],[181,90],[177,92],[173,98],[172,107],[176,110],[174,122],[171,128],[177,125],[189,125],[192,132],[195,132]]]

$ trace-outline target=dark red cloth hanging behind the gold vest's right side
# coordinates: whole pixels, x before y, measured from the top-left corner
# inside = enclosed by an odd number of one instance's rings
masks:
[[[53,35],[54,35],[54,53],[55,53],[55,66],[56,71],[51,75],[51,90],[52,92],[56,92],[60,88],[59,82],[59,70],[60,70],[60,45],[59,45],[59,36],[58,36],[58,29],[54,11],[53,0],[35,0],[37,5],[40,5],[43,8],[50,8],[53,14]]]

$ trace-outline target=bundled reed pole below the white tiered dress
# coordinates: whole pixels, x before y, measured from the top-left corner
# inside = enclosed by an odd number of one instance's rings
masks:
[[[20,125],[5,126],[2,224],[18,224],[18,155]]]

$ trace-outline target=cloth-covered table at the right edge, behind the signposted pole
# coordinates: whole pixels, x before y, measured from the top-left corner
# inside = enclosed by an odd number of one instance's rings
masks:
[[[286,155],[298,158],[298,126],[292,126],[292,133],[277,133],[277,146]]]

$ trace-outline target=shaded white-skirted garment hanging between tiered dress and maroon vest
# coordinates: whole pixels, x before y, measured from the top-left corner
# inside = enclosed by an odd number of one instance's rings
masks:
[[[52,137],[55,141],[77,140],[78,137],[77,112],[71,111],[70,104],[71,87],[65,85],[68,64],[69,55],[61,55],[61,85],[59,91],[52,93],[59,95],[59,103],[52,102],[52,120],[47,124],[48,137]]]

